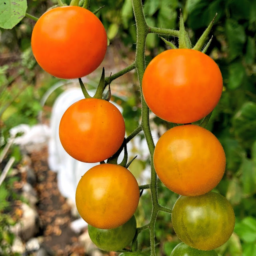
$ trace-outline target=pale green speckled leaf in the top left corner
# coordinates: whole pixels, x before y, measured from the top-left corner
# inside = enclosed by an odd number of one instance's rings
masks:
[[[25,17],[27,8],[26,0],[1,0],[0,27],[12,29]]]

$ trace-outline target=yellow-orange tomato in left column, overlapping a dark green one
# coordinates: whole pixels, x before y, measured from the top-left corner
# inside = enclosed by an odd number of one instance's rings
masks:
[[[112,229],[134,214],[140,190],[133,174],[117,164],[100,164],[82,176],[76,188],[76,207],[91,226]]]

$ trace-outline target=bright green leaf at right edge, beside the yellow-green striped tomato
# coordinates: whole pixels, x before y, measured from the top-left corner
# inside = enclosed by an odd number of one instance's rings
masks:
[[[256,219],[249,216],[236,223],[235,233],[246,243],[256,242]],[[255,255],[255,254],[251,254]]]

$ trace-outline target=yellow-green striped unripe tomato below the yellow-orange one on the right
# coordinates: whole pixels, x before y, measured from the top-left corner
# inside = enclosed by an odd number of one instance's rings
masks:
[[[235,215],[228,200],[215,192],[180,196],[172,209],[172,226],[178,238],[198,250],[213,250],[228,241]]]

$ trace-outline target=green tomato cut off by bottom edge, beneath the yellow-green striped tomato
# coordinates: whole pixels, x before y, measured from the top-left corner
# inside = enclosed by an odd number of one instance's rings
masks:
[[[173,250],[170,256],[218,256],[214,250],[202,251],[197,250],[184,244],[183,242],[178,244]]]

